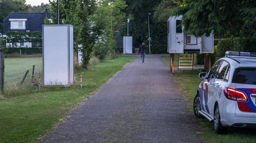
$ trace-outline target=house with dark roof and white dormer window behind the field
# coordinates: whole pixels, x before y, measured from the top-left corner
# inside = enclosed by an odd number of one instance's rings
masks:
[[[47,17],[49,21],[52,21],[51,14],[47,12]],[[6,37],[6,32],[8,31],[19,31],[19,32],[29,32],[29,31],[40,31],[42,32],[42,25],[44,24],[44,19],[46,13],[14,13],[11,12],[4,18],[3,23],[3,35]],[[14,43],[6,43],[6,46],[14,46]],[[18,47],[37,47],[37,43],[17,43]],[[38,43],[39,47],[42,47],[42,43]]]

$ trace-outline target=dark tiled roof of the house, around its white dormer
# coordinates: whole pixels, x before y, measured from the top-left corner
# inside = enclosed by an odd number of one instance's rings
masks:
[[[3,34],[6,34],[7,31],[41,31],[42,25],[44,24],[44,18],[46,13],[14,13],[11,12],[9,15],[4,18],[3,23]],[[51,18],[51,13],[47,13],[47,17]],[[9,19],[27,19],[26,29],[10,29]]]

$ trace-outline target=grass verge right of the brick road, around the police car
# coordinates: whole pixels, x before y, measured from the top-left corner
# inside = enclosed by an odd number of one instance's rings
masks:
[[[168,64],[169,61],[163,61]],[[177,80],[178,86],[184,91],[185,96],[188,98],[190,107],[189,112],[193,112],[193,101],[202,79],[198,78],[200,69],[175,71],[174,78]],[[194,113],[193,113],[194,114]],[[196,117],[195,117],[196,118]],[[207,119],[198,119],[201,122],[202,131],[196,134],[201,135],[204,142],[209,143],[255,143],[256,131],[255,129],[241,129],[241,128],[229,128],[229,133],[226,135],[218,135],[213,132],[213,123],[210,123]]]

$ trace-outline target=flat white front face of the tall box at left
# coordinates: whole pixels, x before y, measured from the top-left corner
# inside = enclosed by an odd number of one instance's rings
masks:
[[[44,85],[68,85],[68,27],[43,27]]]

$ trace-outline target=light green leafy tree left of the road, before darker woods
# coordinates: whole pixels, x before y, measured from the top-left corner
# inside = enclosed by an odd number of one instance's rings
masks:
[[[91,17],[92,21],[102,23],[104,25],[104,34],[102,40],[106,39],[109,49],[115,53],[116,39],[114,36],[115,27],[122,24],[125,18],[125,13],[122,12],[127,7],[123,0],[100,0],[96,13]],[[103,21],[105,21],[103,23]],[[114,54],[113,54],[114,55]]]

